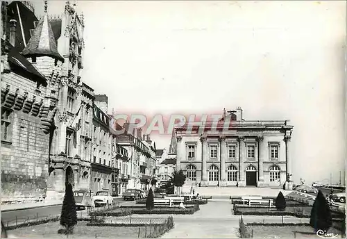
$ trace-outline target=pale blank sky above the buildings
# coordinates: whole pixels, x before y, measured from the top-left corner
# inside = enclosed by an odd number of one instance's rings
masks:
[[[346,1],[77,3],[82,79],[110,111],[290,119],[294,180],[344,176]],[[64,6],[49,1],[49,13]]]

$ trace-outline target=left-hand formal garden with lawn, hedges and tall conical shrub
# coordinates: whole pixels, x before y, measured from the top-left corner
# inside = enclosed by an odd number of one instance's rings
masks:
[[[182,186],[183,172],[174,172],[174,186]],[[73,190],[67,184],[60,216],[7,226],[9,235],[24,238],[158,238],[174,228],[171,215],[191,215],[207,201],[184,201],[178,205],[156,205],[153,190],[133,206],[112,205],[77,213]],[[142,215],[142,216],[136,216]],[[146,216],[148,215],[148,216]],[[158,215],[158,216],[155,216]]]

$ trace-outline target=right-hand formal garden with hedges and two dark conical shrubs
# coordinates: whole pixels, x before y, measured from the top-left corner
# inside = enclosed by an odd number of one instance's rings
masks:
[[[282,192],[274,199],[273,206],[247,206],[238,199],[234,203],[233,213],[241,215],[241,238],[345,237],[345,214],[329,206],[321,191],[313,204],[301,198],[296,200],[293,194],[284,197]],[[253,222],[245,222],[247,215],[253,215]],[[257,215],[263,217],[256,219]]]

